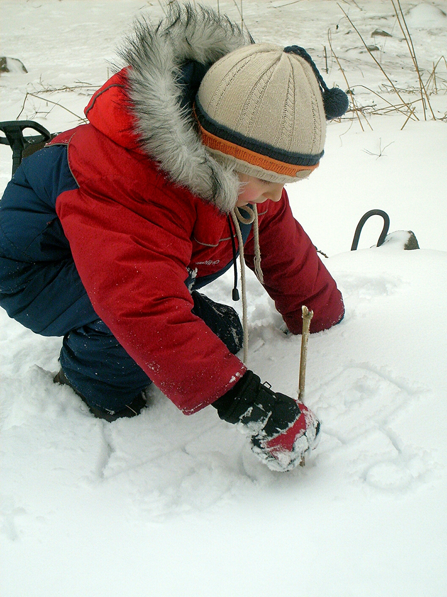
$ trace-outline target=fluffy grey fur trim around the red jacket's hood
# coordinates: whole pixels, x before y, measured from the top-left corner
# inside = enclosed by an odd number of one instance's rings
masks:
[[[207,153],[190,111],[182,107],[181,66],[194,60],[214,63],[253,43],[237,24],[209,7],[171,2],[158,24],[141,19],[119,56],[128,71],[131,110],[143,149],[170,180],[228,213],[240,183],[233,168]]]

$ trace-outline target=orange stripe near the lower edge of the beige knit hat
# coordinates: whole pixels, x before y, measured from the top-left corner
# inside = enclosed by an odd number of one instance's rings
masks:
[[[226,141],[225,139],[216,137],[212,133],[206,131],[200,122],[198,122],[198,119],[197,124],[200,130],[201,140],[204,145],[210,149],[215,149],[216,151],[225,153],[226,155],[231,155],[233,158],[240,159],[243,162],[248,162],[253,166],[263,168],[263,170],[270,170],[277,174],[282,174],[283,176],[295,177],[296,173],[300,170],[312,171],[315,170],[315,168],[318,168],[318,164],[315,164],[314,166],[297,166],[294,164],[287,164],[286,162],[280,162],[274,158],[268,158],[267,156],[256,153],[251,149],[246,149],[245,147],[231,143],[231,141]]]

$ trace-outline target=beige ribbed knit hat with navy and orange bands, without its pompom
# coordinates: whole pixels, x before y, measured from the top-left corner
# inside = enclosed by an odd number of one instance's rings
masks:
[[[207,71],[194,106],[202,143],[215,158],[280,183],[318,167],[326,133],[312,66],[285,50],[252,44],[226,54]]]

